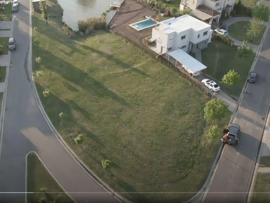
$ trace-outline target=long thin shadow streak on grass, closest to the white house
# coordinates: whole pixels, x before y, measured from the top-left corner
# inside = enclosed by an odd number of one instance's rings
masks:
[[[139,73],[139,74],[141,74],[141,75],[143,75],[143,76],[150,77],[149,74],[145,73],[144,71],[141,71],[141,70],[139,70],[139,69],[137,69],[137,68],[134,68],[134,67],[130,66],[130,65],[127,64],[127,63],[124,63],[123,61],[120,61],[119,59],[115,58],[113,55],[104,53],[103,51],[96,50],[96,49],[94,49],[94,48],[92,48],[92,47],[88,47],[88,46],[86,46],[86,45],[81,45],[81,46],[82,46],[84,49],[86,49],[86,50],[88,49],[88,50],[90,50],[90,51],[92,51],[92,52],[95,52],[95,53],[97,53],[97,54],[99,54],[99,55],[101,55],[101,56],[107,58],[108,60],[114,61],[115,63],[117,63],[118,65],[122,66],[122,67],[125,68],[125,69],[129,69],[129,70],[134,71],[134,72],[136,72],[136,73]]]

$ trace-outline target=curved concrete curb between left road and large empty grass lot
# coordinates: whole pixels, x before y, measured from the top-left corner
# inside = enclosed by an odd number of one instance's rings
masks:
[[[113,191],[113,189],[111,189],[106,183],[104,183],[94,172],[92,172],[86,165],[85,163],[83,163],[80,158],[73,152],[73,150],[68,146],[68,144],[65,142],[65,140],[61,137],[61,135],[57,132],[57,130],[55,129],[55,127],[53,126],[52,122],[50,121],[48,115],[46,114],[42,103],[40,101],[38,92],[36,90],[36,85],[35,85],[35,81],[33,79],[33,72],[32,72],[32,5],[31,5],[31,1],[30,1],[30,19],[29,19],[29,28],[30,28],[30,44],[29,44],[29,64],[31,65],[31,74],[32,74],[32,80],[31,80],[31,86],[32,86],[32,90],[34,93],[34,97],[35,100],[38,104],[38,107],[40,109],[40,112],[42,113],[43,117],[45,118],[48,126],[50,127],[50,129],[52,130],[53,134],[56,136],[56,138],[59,140],[59,142],[63,145],[63,147],[66,149],[66,151],[70,154],[70,156],[82,167],[83,170],[85,170],[85,172],[91,177],[93,178],[97,184],[99,184],[105,191],[107,191],[108,193],[110,193],[117,201],[121,202],[121,203],[132,203],[129,200],[121,197],[119,194],[117,194],[116,192]]]

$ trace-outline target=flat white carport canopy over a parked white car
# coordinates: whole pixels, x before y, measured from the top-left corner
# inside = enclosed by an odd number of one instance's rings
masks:
[[[172,51],[168,53],[169,57],[173,57],[176,61],[187,67],[189,70],[191,70],[193,73],[197,71],[202,71],[206,69],[207,67],[204,66],[204,64],[197,61],[195,58],[193,58],[191,55],[185,53],[183,50],[178,49],[175,51]]]

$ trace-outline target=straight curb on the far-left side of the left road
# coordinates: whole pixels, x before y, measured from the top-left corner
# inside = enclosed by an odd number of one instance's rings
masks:
[[[13,33],[13,28],[14,28],[14,15],[12,15],[12,25],[11,25],[11,37]],[[1,151],[2,151],[2,142],[3,142],[3,130],[4,130],[4,120],[5,120],[5,112],[6,112],[6,95],[8,92],[8,78],[9,78],[9,68],[10,68],[10,58],[11,58],[11,53],[8,51],[8,63],[6,66],[6,77],[5,77],[5,89],[4,89],[4,94],[3,94],[3,100],[2,100],[2,105],[1,105],[1,115],[0,115],[0,159],[1,159]]]

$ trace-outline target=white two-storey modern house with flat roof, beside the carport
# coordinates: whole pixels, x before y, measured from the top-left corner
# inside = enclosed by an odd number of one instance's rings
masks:
[[[211,25],[190,15],[183,15],[161,21],[158,27],[153,28],[149,42],[154,45],[151,49],[158,54],[178,49],[194,53],[207,48],[212,32]]]

